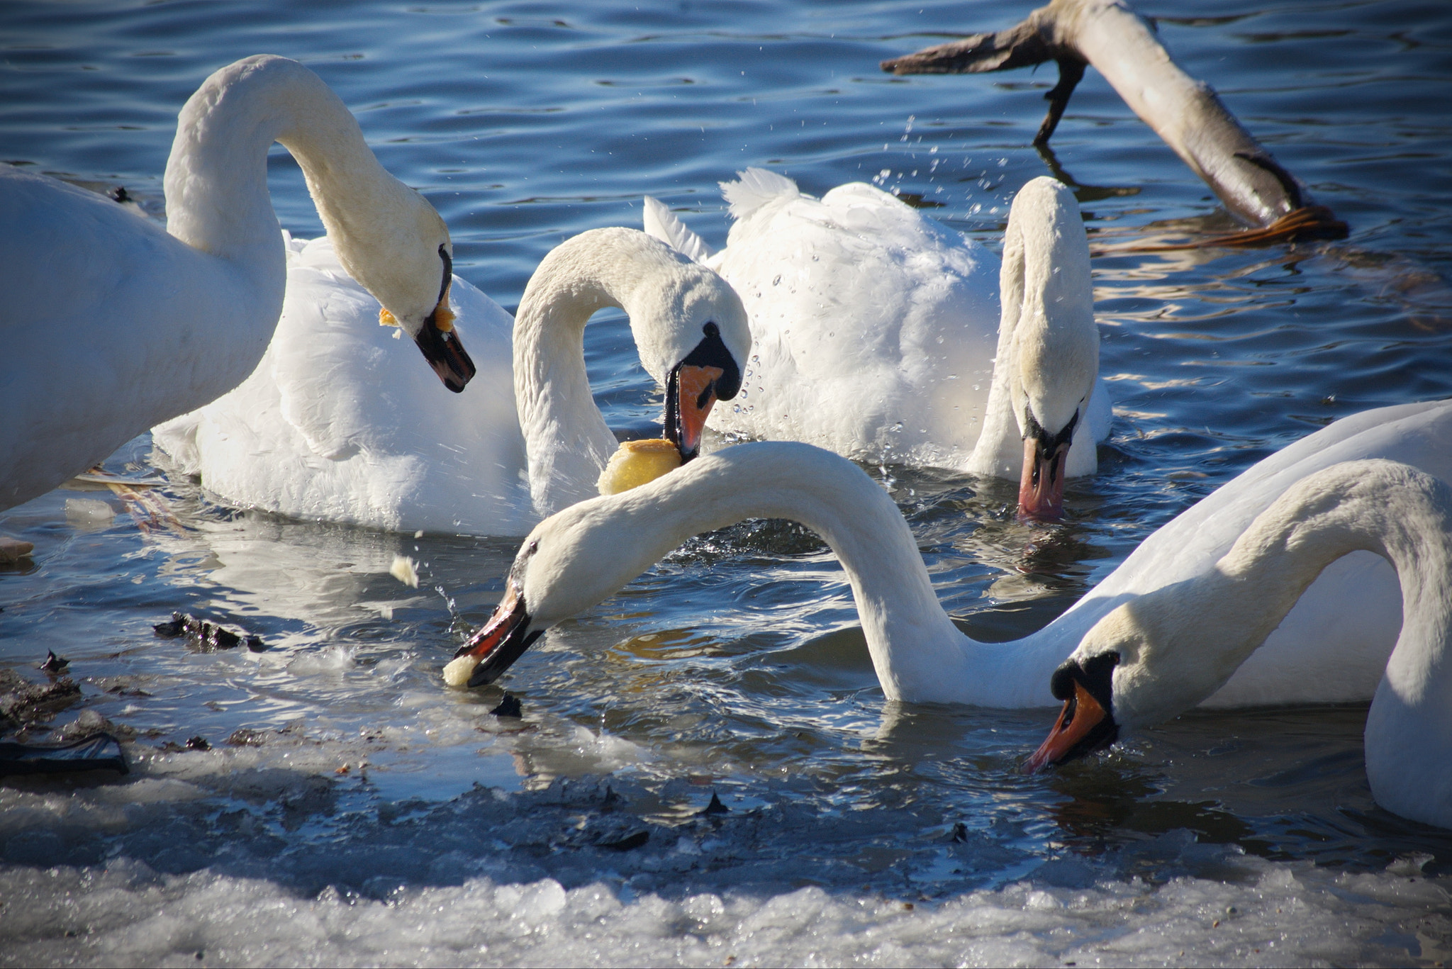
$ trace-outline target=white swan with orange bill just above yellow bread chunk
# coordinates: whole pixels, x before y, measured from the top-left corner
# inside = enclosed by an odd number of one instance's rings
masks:
[[[585,375],[595,309],[630,315],[646,370],[668,385],[666,430],[682,458],[716,395],[735,394],[751,347],[741,299],[716,273],[645,232],[592,230],[544,257],[517,321],[453,280],[454,325],[479,375],[468,394],[440,395],[392,352],[396,331],[378,325],[378,304],[330,240],[295,247],[277,334],[253,375],[152,429],[221,500],[295,519],[524,535],[594,497],[616,449]]]

